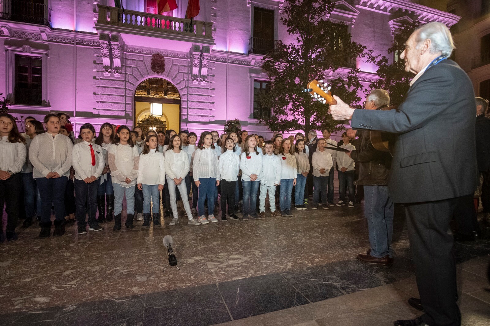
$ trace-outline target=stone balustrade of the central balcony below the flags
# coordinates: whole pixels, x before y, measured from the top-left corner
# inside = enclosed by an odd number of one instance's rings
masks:
[[[98,4],[99,24],[130,27],[141,31],[155,31],[183,36],[193,36],[200,39],[212,40],[212,22],[194,21],[188,19],[163,16],[108,7]]]

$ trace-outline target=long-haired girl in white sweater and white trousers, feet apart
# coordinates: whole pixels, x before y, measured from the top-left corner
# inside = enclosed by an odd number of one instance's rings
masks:
[[[187,152],[182,151],[181,140],[178,135],[170,137],[169,148],[165,155],[165,172],[167,174],[167,186],[169,187],[170,205],[173,213],[170,225],[175,225],[179,222],[175,187],[179,189],[182,203],[189,219],[188,224],[200,225],[201,223],[192,217],[191,206],[189,206],[187,186],[184,180],[189,173],[189,157]]]

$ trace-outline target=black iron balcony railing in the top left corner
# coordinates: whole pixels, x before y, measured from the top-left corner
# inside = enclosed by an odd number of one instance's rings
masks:
[[[4,0],[1,1],[0,19],[31,22],[51,27],[51,9],[42,3]]]

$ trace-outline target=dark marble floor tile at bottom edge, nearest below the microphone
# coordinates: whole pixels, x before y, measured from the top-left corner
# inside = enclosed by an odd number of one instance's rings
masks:
[[[216,284],[146,296],[145,325],[206,326],[231,321]]]

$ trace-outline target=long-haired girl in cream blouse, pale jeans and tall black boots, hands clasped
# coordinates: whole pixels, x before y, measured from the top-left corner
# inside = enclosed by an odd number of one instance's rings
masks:
[[[121,215],[123,212],[123,197],[126,194],[127,218],[124,224],[132,229],[134,220],[134,190],[138,176],[140,156],[138,148],[130,138],[130,130],[120,126],[116,133],[115,143],[108,151],[109,168],[111,169],[112,186],[114,188],[114,228],[121,230]]]

